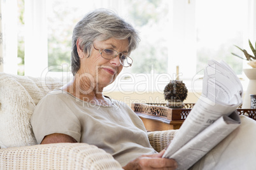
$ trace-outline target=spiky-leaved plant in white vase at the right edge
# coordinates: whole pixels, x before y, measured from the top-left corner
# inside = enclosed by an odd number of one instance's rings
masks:
[[[243,98],[243,105],[242,108],[250,108],[251,102],[250,102],[250,95],[256,95],[256,42],[255,42],[255,48],[253,48],[252,42],[249,39],[249,45],[252,49],[253,55],[248,54],[248,52],[245,49],[241,49],[238,46],[241,51],[243,51],[245,58],[236,55],[235,53],[232,53],[232,55],[238,56],[239,58],[243,60],[248,61],[248,65],[250,65],[251,69],[243,69],[243,72],[245,72],[246,77],[249,79],[248,87],[246,89],[245,97]]]

